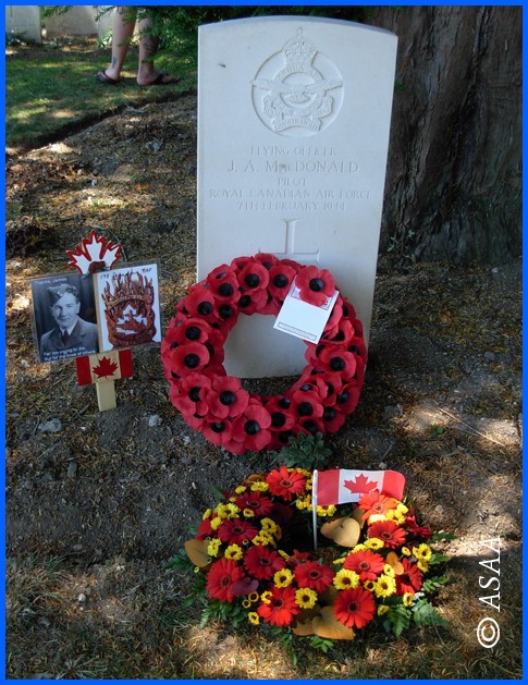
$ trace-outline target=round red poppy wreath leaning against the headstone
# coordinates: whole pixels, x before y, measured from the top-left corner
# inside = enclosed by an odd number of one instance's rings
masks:
[[[273,255],[237,257],[195,283],[176,305],[161,343],[170,400],[187,424],[234,454],[279,450],[299,432],[336,432],[356,408],[367,348],[354,307],[340,294],[307,366],[282,395],[249,393],[228,376],[224,343],[241,314],[278,315],[295,280],[303,301],[320,305],[332,274]]]

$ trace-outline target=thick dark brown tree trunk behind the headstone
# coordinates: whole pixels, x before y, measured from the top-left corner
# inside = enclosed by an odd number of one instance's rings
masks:
[[[517,257],[521,8],[382,8],[371,23],[398,36],[381,249]]]

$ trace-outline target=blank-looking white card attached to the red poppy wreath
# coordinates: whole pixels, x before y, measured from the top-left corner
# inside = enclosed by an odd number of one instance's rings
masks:
[[[334,291],[332,297],[327,297],[326,302],[320,306],[303,302],[299,297],[299,292],[294,281],[273,328],[317,344],[332,314],[339,291]]]

